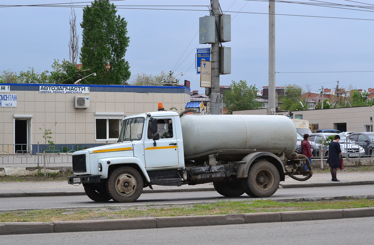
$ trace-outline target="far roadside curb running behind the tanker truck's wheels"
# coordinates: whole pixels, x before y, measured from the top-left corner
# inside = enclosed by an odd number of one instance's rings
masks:
[[[308,188],[308,187],[325,187],[325,186],[354,186],[374,184],[374,180],[351,181],[351,182],[325,182],[325,183],[302,183],[302,184],[279,184],[279,189],[285,188]],[[197,188],[172,188],[172,189],[145,189],[142,193],[172,193],[172,192],[202,192],[215,191],[214,187],[197,187]],[[82,191],[68,192],[1,192],[0,198],[12,197],[35,197],[35,196],[84,196]]]

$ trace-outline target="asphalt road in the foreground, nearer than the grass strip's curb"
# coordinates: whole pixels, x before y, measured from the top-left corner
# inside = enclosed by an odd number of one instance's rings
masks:
[[[2,235],[0,244],[373,244],[374,217],[105,232]]]

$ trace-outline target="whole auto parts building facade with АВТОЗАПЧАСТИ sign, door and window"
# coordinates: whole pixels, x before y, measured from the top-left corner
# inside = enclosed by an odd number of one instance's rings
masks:
[[[50,130],[56,145],[115,143],[125,116],[184,108],[182,86],[0,84],[0,144],[33,151]],[[10,146],[9,146],[10,147]],[[26,147],[26,148],[25,148]],[[25,150],[26,149],[26,150]]]

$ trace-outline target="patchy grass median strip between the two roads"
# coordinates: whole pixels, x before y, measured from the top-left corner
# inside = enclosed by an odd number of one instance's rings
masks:
[[[167,217],[183,215],[242,214],[302,210],[374,207],[374,200],[347,198],[343,201],[278,202],[273,200],[217,201],[208,204],[104,207],[98,209],[44,209],[0,213],[0,222],[48,222],[62,220],[103,220],[113,218]]]

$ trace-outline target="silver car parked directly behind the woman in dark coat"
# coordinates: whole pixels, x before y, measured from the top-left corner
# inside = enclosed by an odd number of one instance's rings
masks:
[[[325,151],[325,157],[328,157],[328,146],[323,145],[322,147],[322,140],[325,142],[326,137],[330,135],[336,135],[336,133],[314,133],[310,135],[309,140],[315,142],[320,150]],[[348,139],[345,135],[340,134],[340,148],[341,151],[343,152],[343,157],[348,157],[348,158],[361,158],[365,156],[365,150],[361,146],[355,144],[352,142],[352,140]],[[322,152],[323,155],[323,152]]]

